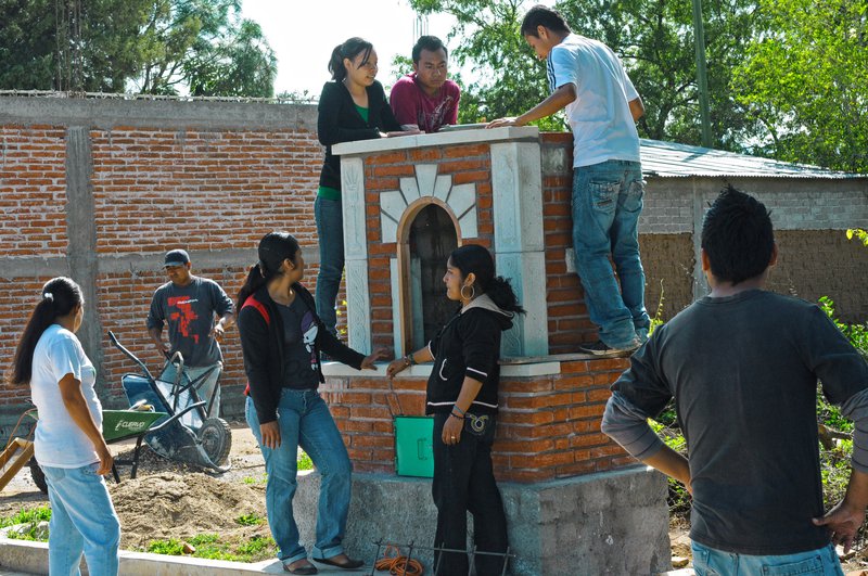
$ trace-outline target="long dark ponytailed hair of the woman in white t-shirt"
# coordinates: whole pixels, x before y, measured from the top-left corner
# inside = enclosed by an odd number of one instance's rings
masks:
[[[81,287],[72,278],[59,277],[46,282],[15,349],[12,374],[9,376],[12,384],[30,383],[34,373],[34,350],[42,332],[59,317],[67,316],[76,306],[84,303]]]

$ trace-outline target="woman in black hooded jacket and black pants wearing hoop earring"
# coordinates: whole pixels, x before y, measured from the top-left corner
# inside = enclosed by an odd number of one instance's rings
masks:
[[[492,469],[500,335],[524,313],[509,281],[495,277],[483,246],[457,248],[446,264],[446,297],[461,308],[427,346],[388,364],[390,377],[418,362],[434,361],[427,380],[425,413],[434,414],[436,549],[467,548],[467,513],[473,514],[477,552],[505,554],[507,519]],[[506,558],[476,554],[480,576],[501,574]],[[436,574],[468,574],[465,553],[435,550]]]

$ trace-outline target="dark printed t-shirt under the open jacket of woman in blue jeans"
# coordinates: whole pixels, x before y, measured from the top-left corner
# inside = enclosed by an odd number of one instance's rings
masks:
[[[319,386],[319,371],[314,343],[317,323],[302,298],[292,304],[278,304],[283,324],[283,387],[310,389]]]

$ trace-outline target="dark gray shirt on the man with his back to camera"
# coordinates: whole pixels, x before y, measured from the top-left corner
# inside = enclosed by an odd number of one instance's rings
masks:
[[[690,537],[742,554],[829,543],[817,380],[833,404],[868,366],[817,306],[760,290],[705,297],[660,328],[612,389],[655,417],[675,397],[693,487]]]

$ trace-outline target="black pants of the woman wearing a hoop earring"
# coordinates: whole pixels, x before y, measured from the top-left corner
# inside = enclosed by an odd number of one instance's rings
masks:
[[[461,440],[443,443],[443,425],[449,414],[434,415],[434,482],[432,495],[437,507],[434,546],[464,550],[468,546],[468,511],[473,514],[473,536],[478,551],[507,551],[507,516],[492,469],[495,418],[475,432],[464,422]],[[478,576],[501,574],[505,556],[478,554],[474,559]],[[468,574],[465,553],[435,552],[437,576]]]

